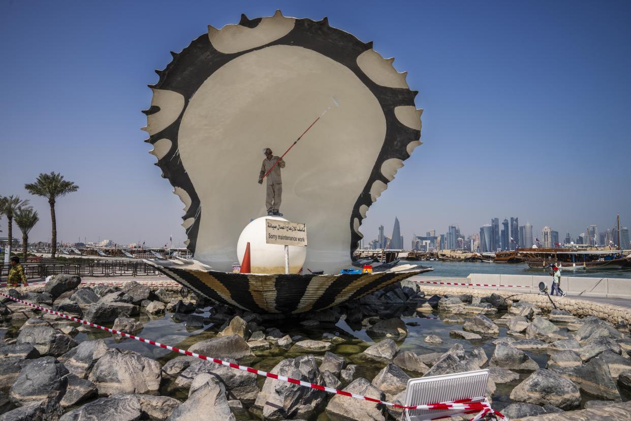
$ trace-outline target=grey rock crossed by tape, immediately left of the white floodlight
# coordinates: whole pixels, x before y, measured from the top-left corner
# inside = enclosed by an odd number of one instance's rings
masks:
[[[351,384],[343,389],[349,393],[361,394],[369,398],[384,400],[386,395],[375,388],[369,381],[363,377],[355,379]],[[348,420],[370,420],[385,421],[386,408],[384,405],[361,401],[358,399],[349,399],[348,396],[339,394],[333,395],[326,406],[326,415],[331,421],[348,421]]]

